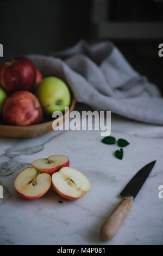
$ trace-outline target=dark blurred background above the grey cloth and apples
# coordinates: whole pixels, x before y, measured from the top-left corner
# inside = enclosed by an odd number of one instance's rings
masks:
[[[1,0],[4,57],[60,51],[85,39],[111,40],[163,93],[162,0]]]

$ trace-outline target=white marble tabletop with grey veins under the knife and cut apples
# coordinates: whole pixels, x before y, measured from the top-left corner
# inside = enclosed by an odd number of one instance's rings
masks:
[[[163,245],[163,129],[112,115],[111,135],[130,142],[124,159],[113,153],[117,145],[101,143],[100,131],[51,132],[33,139],[0,138],[1,245]],[[57,136],[58,135],[58,136]],[[51,188],[42,198],[26,200],[14,189],[20,170],[37,158],[53,154],[70,157],[72,167],[91,182],[84,197],[70,201]],[[99,239],[99,228],[120,202],[118,194],[145,164],[156,164],[117,235]],[[64,203],[60,204],[58,200]]]

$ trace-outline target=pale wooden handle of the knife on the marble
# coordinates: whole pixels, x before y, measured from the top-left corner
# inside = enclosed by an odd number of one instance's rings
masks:
[[[131,206],[133,205],[134,198],[126,196],[117,205],[114,211],[111,212],[110,216],[106,218],[106,221],[101,227],[100,236],[104,241],[112,239],[120,229],[124,219],[128,215]]]

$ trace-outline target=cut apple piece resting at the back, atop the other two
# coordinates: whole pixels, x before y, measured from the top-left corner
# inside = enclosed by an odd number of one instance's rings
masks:
[[[32,166],[41,173],[48,173],[52,175],[58,172],[62,167],[70,166],[70,161],[67,156],[54,155],[49,156],[47,159],[37,159],[32,163]]]

